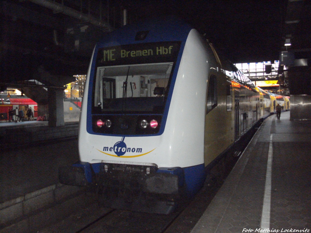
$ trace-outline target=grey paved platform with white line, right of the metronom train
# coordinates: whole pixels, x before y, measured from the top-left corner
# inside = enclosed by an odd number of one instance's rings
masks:
[[[310,232],[311,121],[268,117],[192,232]]]

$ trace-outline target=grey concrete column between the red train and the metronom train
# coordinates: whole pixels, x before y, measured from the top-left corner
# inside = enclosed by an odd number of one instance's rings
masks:
[[[64,126],[63,89],[48,88],[49,126]]]

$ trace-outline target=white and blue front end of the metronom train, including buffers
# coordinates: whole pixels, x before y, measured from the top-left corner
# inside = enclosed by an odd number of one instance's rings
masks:
[[[206,177],[207,81],[216,72],[207,47],[179,21],[127,25],[98,43],[82,101],[81,162],[61,168],[61,182],[97,185],[106,203],[122,194],[128,205],[144,196],[171,206],[195,194]]]

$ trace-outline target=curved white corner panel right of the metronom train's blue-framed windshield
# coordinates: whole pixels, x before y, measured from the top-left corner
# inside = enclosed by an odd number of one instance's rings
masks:
[[[210,66],[207,60],[204,41],[196,30],[191,30],[180,61],[163,134],[164,142],[169,142],[163,146],[169,148],[162,153],[171,155],[169,166],[190,167],[204,163],[204,127],[200,122],[204,121],[206,80]]]

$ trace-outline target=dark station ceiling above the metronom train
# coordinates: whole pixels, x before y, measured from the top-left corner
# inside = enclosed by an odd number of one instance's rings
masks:
[[[0,83],[61,86],[86,74],[101,36],[157,15],[185,19],[234,63],[311,58],[310,0],[1,0]]]

